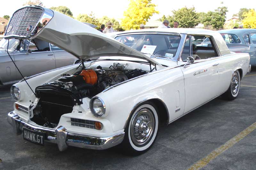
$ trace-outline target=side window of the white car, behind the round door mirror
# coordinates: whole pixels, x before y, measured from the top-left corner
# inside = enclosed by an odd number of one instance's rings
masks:
[[[207,59],[218,56],[212,39],[203,35],[188,36],[181,54],[182,61],[186,61],[188,56],[195,60]]]

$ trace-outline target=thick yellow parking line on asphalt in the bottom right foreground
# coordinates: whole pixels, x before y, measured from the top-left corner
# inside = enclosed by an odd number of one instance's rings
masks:
[[[246,137],[249,133],[251,133],[254,129],[256,129],[256,122],[253,123],[248,128],[244,129],[241,133],[233,137],[232,139],[228,140],[225,144],[220,146],[219,148],[215,149],[212,153],[204,157],[202,160],[199,160],[194,165],[190,166],[189,170],[194,169],[201,169],[204,166],[206,166],[212,159],[215,159],[217,156],[219,156],[222,152],[226,151],[228,148],[232,147],[234,144],[239,142],[241,139]]]

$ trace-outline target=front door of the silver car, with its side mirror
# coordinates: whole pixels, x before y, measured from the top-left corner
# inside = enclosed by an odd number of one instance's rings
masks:
[[[56,68],[54,54],[50,51],[48,42],[38,41],[34,44],[26,41],[26,44],[23,44],[23,48],[25,50],[14,53],[14,59],[24,77]],[[22,79],[18,70],[16,72],[16,79]]]

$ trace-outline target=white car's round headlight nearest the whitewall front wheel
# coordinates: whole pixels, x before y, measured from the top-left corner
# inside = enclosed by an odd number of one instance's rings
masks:
[[[92,98],[90,101],[90,110],[94,116],[102,117],[106,112],[105,103],[99,97]]]

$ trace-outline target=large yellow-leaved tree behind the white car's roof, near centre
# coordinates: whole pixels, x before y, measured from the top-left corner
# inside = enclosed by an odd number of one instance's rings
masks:
[[[125,30],[139,29],[140,24],[146,24],[153,14],[159,13],[155,7],[151,0],[131,0],[128,9],[124,11],[121,25]]]

